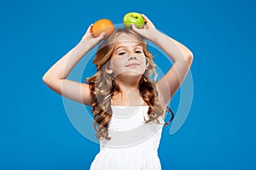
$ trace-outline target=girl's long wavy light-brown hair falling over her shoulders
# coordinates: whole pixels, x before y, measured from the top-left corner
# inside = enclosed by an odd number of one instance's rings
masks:
[[[158,118],[159,116],[162,116],[165,111],[170,111],[172,113],[170,121],[166,122],[165,126],[168,126],[174,118],[174,113],[169,107],[164,109],[160,105],[158,92],[154,85],[156,82],[156,73],[153,55],[148,51],[146,40],[130,28],[117,28],[97,49],[96,57],[93,60],[97,69],[96,74],[85,79],[85,81],[90,84],[90,92],[93,96],[91,112],[94,115],[93,126],[96,129],[96,138],[99,140],[111,139],[108,137],[108,124],[113,113],[111,109],[111,99],[113,94],[121,93],[121,91],[115,78],[112,75],[109,75],[106,72],[106,69],[113,54],[117,38],[120,34],[124,33],[131,37],[136,37],[139,44],[143,47],[143,53],[146,56],[146,65],[148,66],[148,69],[145,70],[139,82],[139,92],[141,93],[143,100],[149,105],[148,120],[144,117],[144,121],[160,123]],[[154,76],[153,79],[150,78],[152,76]]]

